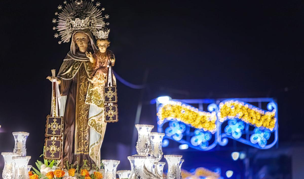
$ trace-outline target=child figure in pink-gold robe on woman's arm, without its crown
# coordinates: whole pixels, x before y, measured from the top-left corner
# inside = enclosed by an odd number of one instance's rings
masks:
[[[107,49],[110,46],[108,38],[97,39],[96,45],[98,51],[94,54],[85,52],[86,56],[90,59],[90,62],[94,64],[93,67],[95,67],[91,77],[88,78],[88,80],[93,83],[92,89],[98,88],[99,84],[105,84],[110,62],[112,66],[114,66],[115,63],[113,52]]]

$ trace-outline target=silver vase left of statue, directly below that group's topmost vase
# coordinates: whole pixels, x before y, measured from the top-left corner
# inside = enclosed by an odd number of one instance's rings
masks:
[[[12,157],[13,159],[13,174],[15,179],[29,179],[27,164],[31,156],[17,156]]]

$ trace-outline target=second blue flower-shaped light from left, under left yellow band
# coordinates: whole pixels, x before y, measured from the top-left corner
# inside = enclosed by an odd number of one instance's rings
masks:
[[[194,130],[194,136],[191,137],[191,144],[194,146],[199,146],[205,149],[209,146],[208,141],[211,139],[211,134],[209,132],[203,132],[200,129]]]

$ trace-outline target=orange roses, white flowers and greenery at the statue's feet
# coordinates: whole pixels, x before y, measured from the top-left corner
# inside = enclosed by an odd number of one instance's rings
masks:
[[[42,157],[40,155],[40,157]],[[29,179],[102,179],[105,173],[104,169],[99,169],[96,165],[88,165],[88,160],[83,160],[83,165],[80,167],[78,164],[73,168],[73,164],[68,161],[64,164],[64,169],[57,167],[59,160],[39,160],[36,161],[37,169],[32,167],[33,170],[29,171]],[[102,165],[103,167],[103,165]]]

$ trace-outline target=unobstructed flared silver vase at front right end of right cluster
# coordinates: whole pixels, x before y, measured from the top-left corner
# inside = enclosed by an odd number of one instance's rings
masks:
[[[168,163],[167,179],[181,179],[181,170],[179,168],[181,155],[164,155]]]

